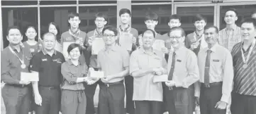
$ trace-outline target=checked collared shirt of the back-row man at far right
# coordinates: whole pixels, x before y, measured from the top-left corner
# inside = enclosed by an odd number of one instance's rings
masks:
[[[231,51],[235,44],[242,41],[240,29],[240,27],[235,25],[235,27],[232,29],[233,34],[228,34],[227,27],[224,28],[218,32],[218,43]]]

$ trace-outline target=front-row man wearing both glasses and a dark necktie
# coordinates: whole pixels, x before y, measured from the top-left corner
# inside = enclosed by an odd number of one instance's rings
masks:
[[[184,46],[185,33],[181,27],[173,27],[168,35],[174,51],[169,53],[165,108],[169,114],[191,114],[194,110],[191,85],[199,80],[196,54]]]

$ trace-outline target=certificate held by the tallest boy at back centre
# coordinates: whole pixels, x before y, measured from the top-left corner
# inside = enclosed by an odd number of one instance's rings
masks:
[[[124,49],[131,51],[133,46],[133,34],[123,32],[119,36],[119,44]]]

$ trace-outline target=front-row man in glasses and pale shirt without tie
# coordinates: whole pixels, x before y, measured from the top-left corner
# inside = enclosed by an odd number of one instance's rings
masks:
[[[104,72],[99,82],[99,114],[123,114],[125,87],[123,79],[129,72],[130,56],[126,49],[116,44],[118,30],[106,26],[102,30],[105,48],[99,51],[97,65]]]

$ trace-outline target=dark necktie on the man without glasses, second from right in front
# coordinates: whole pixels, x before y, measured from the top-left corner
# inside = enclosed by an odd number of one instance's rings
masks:
[[[209,80],[210,60],[211,60],[211,50],[208,50],[207,56],[206,56],[206,65],[204,68],[204,84],[206,87],[209,87],[209,84],[210,84],[210,80]]]

